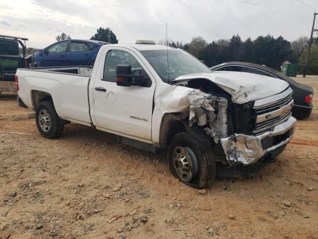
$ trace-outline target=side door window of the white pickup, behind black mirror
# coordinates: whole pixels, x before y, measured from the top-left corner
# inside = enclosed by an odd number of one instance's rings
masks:
[[[116,66],[120,64],[131,65],[131,74],[142,70],[139,62],[130,53],[120,50],[110,50],[106,54],[103,80],[115,82]]]

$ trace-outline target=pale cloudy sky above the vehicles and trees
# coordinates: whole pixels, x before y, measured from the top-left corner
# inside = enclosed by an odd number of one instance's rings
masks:
[[[165,38],[167,23],[174,42],[196,36],[212,42],[233,34],[291,41],[310,36],[315,11],[318,0],[0,0],[0,34],[44,48],[62,32],[89,39],[101,26],[110,27],[119,43],[134,43]]]

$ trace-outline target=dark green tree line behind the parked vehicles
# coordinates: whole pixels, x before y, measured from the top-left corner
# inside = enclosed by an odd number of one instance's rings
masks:
[[[71,37],[65,33],[56,37],[58,41],[64,39],[71,39]],[[112,44],[118,43],[115,33],[109,27],[99,27],[90,39]],[[268,34],[266,36],[258,36],[254,40],[248,37],[243,41],[237,34],[233,35],[231,39],[219,39],[210,43],[203,37],[197,36],[186,44],[175,43],[171,39],[160,39],[157,44],[168,44],[182,48],[204,61],[208,67],[228,61],[244,61],[280,70],[280,66],[284,61],[290,61],[291,63],[300,64],[299,73],[302,74],[309,38],[301,36],[294,41],[288,41],[283,36],[275,38]],[[314,39],[312,45],[307,72],[308,74],[318,74],[318,36]]]

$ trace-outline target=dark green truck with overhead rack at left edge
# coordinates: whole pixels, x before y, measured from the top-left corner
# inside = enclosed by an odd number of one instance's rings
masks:
[[[27,40],[23,37],[0,35],[0,93],[16,92],[14,81],[16,69],[27,67],[25,58]]]

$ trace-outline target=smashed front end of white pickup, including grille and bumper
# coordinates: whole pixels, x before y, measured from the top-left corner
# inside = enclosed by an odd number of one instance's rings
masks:
[[[203,126],[222,145],[230,166],[271,160],[284,150],[295,131],[291,93],[289,88],[265,100],[234,104],[229,98],[193,90],[187,94],[189,126]]]

